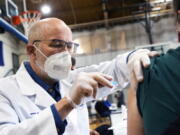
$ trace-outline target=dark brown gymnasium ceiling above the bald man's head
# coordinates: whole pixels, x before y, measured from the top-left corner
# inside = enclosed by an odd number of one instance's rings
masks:
[[[14,1],[22,10],[22,0]],[[156,0],[151,0],[153,1]],[[42,18],[60,18],[74,30],[119,24],[123,18],[128,20],[127,17],[144,13],[144,7],[147,6],[145,2],[145,0],[26,0],[28,10],[40,10],[42,5],[49,5],[51,13],[42,15]],[[169,8],[167,6],[163,10]]]

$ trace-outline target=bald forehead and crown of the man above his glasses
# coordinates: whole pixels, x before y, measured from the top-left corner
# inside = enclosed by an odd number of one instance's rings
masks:
[[[48,18],[38,21],[29,31],[28,38],[34,40],[61,39],[72,41],[70,28],[57,18]]]

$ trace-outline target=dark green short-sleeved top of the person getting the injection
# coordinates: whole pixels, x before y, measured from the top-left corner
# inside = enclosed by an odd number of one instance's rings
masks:
[[[180,47],[151,59],[144,78],[137,89],[137,106],[145,135],[162,135],[180,117]]]

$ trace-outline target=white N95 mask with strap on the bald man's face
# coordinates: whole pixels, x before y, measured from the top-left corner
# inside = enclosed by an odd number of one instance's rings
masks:
[[[62,80],[68,77],[72,66],[71,55],[68,51],[56,53],[47,57],[43,52],[41,52],[41,50],[39,50],[39,48],[36,46],[34,47],[46,58],[43,69],[38,64],[41,70],[44,70],[49,77],[56,80]]]

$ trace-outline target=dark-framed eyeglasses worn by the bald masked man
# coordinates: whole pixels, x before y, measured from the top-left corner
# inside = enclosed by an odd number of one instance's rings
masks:
[[[61,49],[61,48],[65,48],[67,47],[68,50],[72,51],[72,52],[76,52],[79,44],[74,43],[74,42],[66,42],[64,40],[60,40],[60,39],[52,39],[52,40],[34,40],[33,44],[37,43],[37,42],[49,42],[48,46],[51,48],[57,48],[57,49]]]

